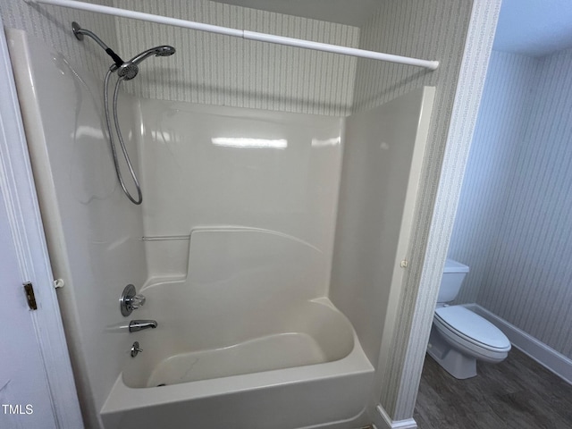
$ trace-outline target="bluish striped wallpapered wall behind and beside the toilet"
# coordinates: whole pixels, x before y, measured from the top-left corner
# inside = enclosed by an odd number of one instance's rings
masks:
[[[486,156],[471,156],[474,176],[490,164],[506,168],[491,180],[489,193],[463,189],[463,200],[478,198],[475,204],[494,207],[479,214],[476,228],[492,223],[493,216],[498,220],[486,256],[473,257],[467,252],[475,242],[467,233],[470,206],[459,211],[451,252],[467,255],[472,275],[481,280],[468,282],[463,298],[476,296],[478,304],[572,357],[572,50],[539,60],[496,53],[494,64],[487,86],[497,87],[497,121],[488,120],[489,114],[479,117],[479,128],[494,137],[506,121],[514,126],[507,134],[517,141],[475,141]],[[524,99],[526,107],[510,105],[511,96]],[[502,149],[493,151],[495,144]]]

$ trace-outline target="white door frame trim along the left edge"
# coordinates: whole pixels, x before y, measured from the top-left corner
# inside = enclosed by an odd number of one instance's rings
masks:
[[[32,311],[30,316],[51,392],[46,400],[51,402],[59,428],[80,429],[83,428],[80,404],[55,294],[4,29],[0,30],[0,94],[2,204],[6,207],[18,254],[17,269],[22,279],[33,283],[38,302],[38,310]],[[18,327],[5,326],[3,329]]]

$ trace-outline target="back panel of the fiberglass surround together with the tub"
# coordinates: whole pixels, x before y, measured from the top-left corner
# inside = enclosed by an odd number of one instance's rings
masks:
[[[353,422],[374,368],[327,298],[341,118],[134,110],[149,280],[132,318],[159,325],[130,334],[125,353],[144,351],[118,375],[105,428]]]

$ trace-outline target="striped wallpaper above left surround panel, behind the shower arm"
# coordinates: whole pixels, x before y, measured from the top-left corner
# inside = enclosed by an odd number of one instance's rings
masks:
[[[87,3],[111,5],[111,0],[87,0]],[[80,42],[71,32],[71,21],[94,31],[108,46],[117,44],[114,18],[99,13],[74,11],[47,4],[31,4],[23,0],[2,0],[0,15],[5,27],[23,29],[43,40],[46,45],[54,46],[68,61],[82,64],[86,70],[101,75],[109,67],[110,58],[93,40]]]

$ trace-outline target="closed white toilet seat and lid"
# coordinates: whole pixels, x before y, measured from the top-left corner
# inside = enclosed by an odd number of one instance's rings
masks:
[[[510,350],[510,341],[499,328],[465,307],[437,308],[433,323],[446,339],[484,360],[499,361]]]

